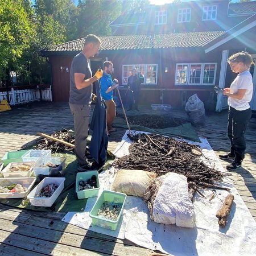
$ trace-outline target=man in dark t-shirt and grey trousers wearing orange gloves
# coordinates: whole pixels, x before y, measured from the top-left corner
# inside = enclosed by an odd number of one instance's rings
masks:
[[[86,138],[88,137],[90,103],[92,102],[92,83],[102,77],[102,71],[97,71],[92,77],[88,59],[98,53],[101,40],[96,35],[85,38],[84,48],[72,61],[70,69],[69,106],[75,126],[75,154],[79,166],[78,171],[93,168],[85,156]]]

